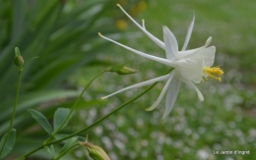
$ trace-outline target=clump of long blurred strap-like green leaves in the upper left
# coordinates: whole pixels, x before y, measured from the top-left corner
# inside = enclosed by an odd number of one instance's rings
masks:
[[[97,31],[118,32],[112,26],[115,18],[108,8],[114,5],[115,2],[105,0],[0,0],[0,137],[7,132],[12,115],[17,81],[16,68],[12,66],[15,47],[20,48],[25,60],[14,122],[18,133],[16,147],[22,149],[14,149],[12,155],[41,143],[40,138],[32,136],[40,132],[32,129],[35,122],[25,111],[43,106],[41,113],[51,118],[61,102],[71,107],[66,101],[73,104],[78,92],[66,80],[80,67],[99,64],[96,55],[105,41],[98,40]],[[21,65],[20,60],[15,63]],[[49,134],[51,130],[46,126],[43,127]],[[19,142],[22,139],[28,140],[24,147]]]

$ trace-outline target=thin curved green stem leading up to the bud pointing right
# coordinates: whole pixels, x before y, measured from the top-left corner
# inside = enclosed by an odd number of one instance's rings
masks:
[[[51,134],[51,136],[49,136],[44,142],[43,144],[48,143],[52,138],[54,138],[54,136],[56,135],[56,133],[58,133],[62,127],[66,124],[66,122],[69,120],[70,116],[72,115],[72,113],[74,112],[78,102],[80,101],[80,99],[82,98],[83,94],[85,93],[85,91],[87,90],[87,88],[92,84],[92,82],[94,82],[94,80],[96,80],[99,76],[101,76],[103,73],[107,72],[107,69],[101,71],[100,73],[98,73],[96,75],[96,77],[92,80],[89,81],[89,83],[85,86],[85,88],[83,89],[83,91],[80,93],[79,97],[77,98],[76,102],[74,103],[74,105],[71,107],[71,111],[69,112],[68,116],[65,118],[65,120],[62,122],[62,124],[60,125],[59,129],[56,130],[55,132],[53,132]]]

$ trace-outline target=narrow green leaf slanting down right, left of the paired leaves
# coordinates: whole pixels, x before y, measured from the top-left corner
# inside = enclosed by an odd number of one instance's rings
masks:
[[[43,114],[32,109],[29,109],[28,111],[32,114],[32,118],[45,130],[45,132],[51,135],[52,128]]]

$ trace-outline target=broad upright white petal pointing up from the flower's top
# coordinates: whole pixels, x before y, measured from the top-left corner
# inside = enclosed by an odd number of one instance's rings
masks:
[[[163,27],[163,40],[165,44],[166,58],[168,60],[173,60],[177,57],[178,42],[168,27]]]

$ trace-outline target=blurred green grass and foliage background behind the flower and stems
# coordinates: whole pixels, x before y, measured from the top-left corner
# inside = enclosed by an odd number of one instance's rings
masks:
[[[182,46],[193,12],[196,16],[188,49],[205,44],[209,36],[217,47],[215,66],[223,81],[198,84],[205,96],[182,83],[174,108],[161,121],[164,100],[145,112],[158,98],[164,82],[105,120],[89,138],[111,160],[247,160],[256,153],[256,1],[227,0],[21,0],[0,1],[0,134],[8,129],[17,72],[12,64],[20,47],[26,65],[15,121],[18,139],[9,159],[39,145],[46,138],[28,108],[51,121],[57,107],[71,107],[83,87],[101,70],[126,62],[140,72],[130,76],[107,73],[85,93],[76,116],[63,133],[92,124],[144,88],[99,98],[125,86],[161,76],[166,66],[129,52],[97,36],[115,39],[137,50],[164,57],[165,53],[116,7],[162,39],[167,26]],[[32,59],[33,57],[38,57]],[[82,134],[85,136],[87,133]],[[56,145],[57,147],[58,145]],[[214,150],[249,150],[249,155],[215,155]],[[43,150],[31,159],[49,159]],[[75,148],[63,159],[90,159],[85,148]]]

